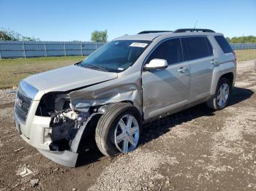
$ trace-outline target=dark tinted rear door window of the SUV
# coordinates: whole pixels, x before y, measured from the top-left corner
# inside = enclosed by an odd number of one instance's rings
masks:
[[[213,55],[210,42],[206,37],[187,37],[182,38],[184,47],[184,60],[194,60]]]

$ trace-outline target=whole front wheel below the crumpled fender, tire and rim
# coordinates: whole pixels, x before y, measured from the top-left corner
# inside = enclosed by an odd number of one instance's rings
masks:
[[[141,117],[135,106],[113,104],[99,118],[95,131],[97,147],[103,155],[112,157],[119,152],[133,151],[140,139]]]

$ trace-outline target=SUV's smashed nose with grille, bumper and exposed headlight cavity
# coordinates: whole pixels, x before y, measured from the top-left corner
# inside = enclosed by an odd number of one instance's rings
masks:
[[[89,111],[73,111],[65,93],[48,93],[37,101],[26,97],[24,92],[19,87],[15,104],[15,123],[20,136],[50,160],[75,166],[79,145],[76,135],[79,136],[78,131],[85,128],[93,115]]]

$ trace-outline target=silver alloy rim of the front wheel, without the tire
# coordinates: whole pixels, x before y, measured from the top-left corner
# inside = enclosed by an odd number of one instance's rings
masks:
[[[115,144],[120,152],[133,151],[138,144],[140,128],[138,121],[130,114],[124,115],[118,121],[115,130]]]

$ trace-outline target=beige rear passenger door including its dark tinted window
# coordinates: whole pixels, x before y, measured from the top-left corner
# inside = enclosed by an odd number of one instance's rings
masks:
[[[211,90],[213,76],[213,48],[206,36],[189,36],[181,39],[184,60],[190,66],[189,102],[206,97]]]

